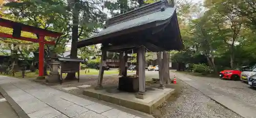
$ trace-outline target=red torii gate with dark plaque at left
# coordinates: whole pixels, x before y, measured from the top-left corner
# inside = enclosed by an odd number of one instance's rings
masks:
[[[33,26],[25,25],[23,23],[7,20],[4,18],[0,18],[0,26],[13,29],[12,35],[0,32],[0,37],[13,38],[13,39],[18,39],[18,40],[25,40],[25,41],[39,43],[39,66],[38,66],[39,75],[38,75],[38,78],[44,78],[44,53],[45,53],[44,44],[51,44],[51,45],[55,44],[54,41],[46,41],[45,36],[56,38],[56,37],[61,36],[62,33],[53,32],[53,31],[49,31],[49,30],[45,30],[45,29],[41,29],[41,28],[36,28]],[[39,36],[38,37],[39,39],[22,37],[22,36],[20,36],[21,31],[34,33],[37,36]]]

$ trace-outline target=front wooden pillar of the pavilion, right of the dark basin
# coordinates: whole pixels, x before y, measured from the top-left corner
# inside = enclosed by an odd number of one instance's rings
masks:
[[[138,48],[138,61],[139,61],[139,92],[136,98],[143,99],[143,95],[145,92],[145,49],[143,46]]]

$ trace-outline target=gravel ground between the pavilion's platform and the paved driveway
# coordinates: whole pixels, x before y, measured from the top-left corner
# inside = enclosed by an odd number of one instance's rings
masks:
[[[161,118],[164,117],[241,117],[240,115],[224,108],[220,104],[204,96],[200,91],[178,81],[180,93],[175,100],[165,103],[160,110]]]

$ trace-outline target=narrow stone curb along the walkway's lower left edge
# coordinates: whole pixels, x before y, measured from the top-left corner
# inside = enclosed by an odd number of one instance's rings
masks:
[[[28,114],[22,108],[20,108],[20,106],[18,106],[18,104],[8,95],[8,93],[1,86],[0,92],[20,118],[30,118]]]

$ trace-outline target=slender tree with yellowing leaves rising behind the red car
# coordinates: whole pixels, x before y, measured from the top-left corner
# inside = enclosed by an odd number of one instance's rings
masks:
[[[206,1],[206,7],[210,10],[217,12],[222,19],[225,25],[225,29],[229,30],[229,36],[223,38],[224,43],[227,44],[230,51],[230,66],[234,68],[235,60],[235,43],[239,43],[239,33],[243,28],[244,18],[240,17],[237,11],[239,0],[234,1]]]

